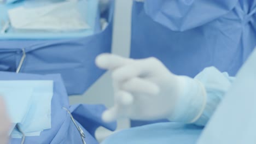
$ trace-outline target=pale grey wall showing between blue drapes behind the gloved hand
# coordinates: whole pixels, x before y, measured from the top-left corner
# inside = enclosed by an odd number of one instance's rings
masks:
[[[115,1],[112,53],[125,57],[128,57],[130,53],[131,7],[132,1]],[[86,103],[112,106],[114,94],[109,71],[102,75],[83,95],[74,95],[69,100],[71,104]],[[119,127],[129,127],[127,122],[120,122]]]

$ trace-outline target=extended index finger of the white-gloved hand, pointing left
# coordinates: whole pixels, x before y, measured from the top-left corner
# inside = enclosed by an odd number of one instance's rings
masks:
[[[111,53],[102,53],[96,57],[96,65],[102,69],[113,70],[125,64],[132,62],[132,59],[114,55]]]

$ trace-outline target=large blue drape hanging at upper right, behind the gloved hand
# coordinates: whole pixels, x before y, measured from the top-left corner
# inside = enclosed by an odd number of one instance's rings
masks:
[[[154,56],[177,75],[214,66],[235,76],[255,39],[255,0],[133,1],[131,57]]]

